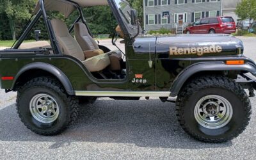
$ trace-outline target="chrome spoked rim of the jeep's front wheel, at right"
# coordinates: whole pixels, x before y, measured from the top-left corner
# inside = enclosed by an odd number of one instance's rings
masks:
[[[194,110],[198,124],[208,129],[219,129],[230,122],[233,109],[230,102],[220,95],[207,95],[198,100]]]

